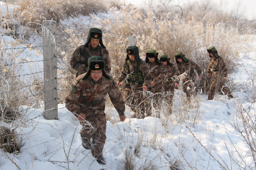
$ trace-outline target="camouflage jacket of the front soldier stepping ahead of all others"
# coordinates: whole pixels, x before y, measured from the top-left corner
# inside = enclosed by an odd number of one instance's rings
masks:
[[[66,107],[74,115],[78,116],[80,113],[86,114],[93,112],[95,114],[102,114],[105,110],[105,96],[109,94],[111,102],[116,108],[118,114],[124,115],[125,103],[123,96],[113,79],[108,80],[104,77],[100,78],[99,83],[95,83],[91,77],[86,80],[81,80],[84,74],[78,76],[72,83],[71,90],[69,90],[65,102]],[[99,90],[97,91],[98,86]],[[97,91],[96,95],[89,99]]]

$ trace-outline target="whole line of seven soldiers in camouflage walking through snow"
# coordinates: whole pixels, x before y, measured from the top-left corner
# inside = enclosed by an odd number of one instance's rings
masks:
[[[207,52],[210,57],[207,76],[212,77],[208,100],[214,99],[217,90],[233,98],[230,90],[224,86],[227,68],[223,59],[218,56],[214,46],[209,47]],[[91,28],[87,42],[76,48],[70,61],[77,74],[66,96],[66,107],[82,125],[82,146],[91,150],[99,164],[105,164],[102,150],[106,139],[106,94],[109,94],[123,122],[126,118],[125,104],[135,112],[132,118],[144,118],[153,115],[152,109],[159,110],[161,101],[166,100],[168,113],[171,114],[174,89],[179,86],[180,79],[183,78],[182,90],[188,101],[197,93],[197,75],[202,79],[200,67],[186,59],[181,52],[175,55],[177,66],[169,61],[167,55],[159,59],[156,50],[147,51],[145,61],[141,60],[136,45],[127,47],[126,54],[116,83],[110,76],[111,59],[102,42],[102,31]],[[122,81],[125,82],[123,95],[119,89]],[[156,116],[160,117],[159,114]]]

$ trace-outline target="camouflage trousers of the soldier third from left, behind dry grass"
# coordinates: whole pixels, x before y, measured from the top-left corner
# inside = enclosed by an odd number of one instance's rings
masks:
[[[125,104],[134,111],[133,117],[144,118],[145,117],[145,105],[144,105],[144,95],[143,89],[131,89],[124,88],[123,98]]]

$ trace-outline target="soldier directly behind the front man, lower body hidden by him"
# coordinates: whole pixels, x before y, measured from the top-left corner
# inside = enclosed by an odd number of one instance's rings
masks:
[[[99,45],[100,44],[100,45]],[[102,42],[102,31],[98,28],[91,28],[87,37],[87,42],[76,48],[70,60],[71,67],[76,70],[76,77],[87,72],[88,59],[92,56],[101,56],[105,62],[105,71],[110,74],[111,59],[109,52]]]

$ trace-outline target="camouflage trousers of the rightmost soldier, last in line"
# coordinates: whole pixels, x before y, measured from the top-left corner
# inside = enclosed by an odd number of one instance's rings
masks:
[[[231,94],[228,87],[224,86],[224,77],[220,76],[219,78],[213,77],[211,80],[210,90],[208,94],[207,100],[214,99],[214,95],[216,92],[218,93],[224,93],[228,95],[228,98],[233,98],[233,95]]]

